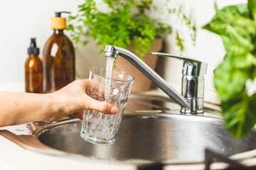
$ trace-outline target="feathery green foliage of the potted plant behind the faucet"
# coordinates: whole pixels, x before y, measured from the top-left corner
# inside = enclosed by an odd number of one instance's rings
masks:
[[[99,2],[99,1],[97,1]],[[70,16],[68,30],[75,42],[82,40],[83,35],[90,35],[97,40],[97,45],[104,49],[105,45],[116,45],[127,48],[132,45],[140,57],[148,52],[149,47],[157,36],[171,34],[172,29],[168,23],[159,18],[152,17],[152,12],[158,9],[152,0],[102,0],[99,3],[107,4],[108,12],[100,11],[95,0],[85,0],[78,6],[76,16]],[[166,0],[164,8],[169,14],[176,14],[191,30],[191,38],[195,41],[196,27],[186,17],[181,6],[169,8]],[[176,30],[176,44],[183,51],[183,39]]]

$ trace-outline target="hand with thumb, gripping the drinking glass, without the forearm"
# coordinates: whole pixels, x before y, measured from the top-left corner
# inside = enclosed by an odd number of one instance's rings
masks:
[[[87,109],[100,111],[105,114],[116,114],[118,112],[116,107],[103,101],[97,101],[86,94],[86,89],[91,88],[92,81],[93,80],[90,79],[75,80],[63,87],[63,89],[50,94],[58,101],[57,107],[61,107],[57,109],[58,112],[56,114],[49,115],[47,120],[59,120],[70,114],[82,119],[82,111]],[[95,86],[95,84],[93,86]],[[94,90],[102,90],[102,86],[99,84]]]

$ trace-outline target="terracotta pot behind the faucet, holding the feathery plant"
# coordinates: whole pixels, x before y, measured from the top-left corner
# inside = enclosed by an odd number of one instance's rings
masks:
[[[149,52],[159,52],[162,49],[162,45],[163,39],[156,39],[154,44],[151,45]],[[127,50],[137,55],[132,47],[128,47]],[[151,69],[155,69],[158,57],[156,55],[151,55],[149,52],[143,57],[143,61],[148,64]],[[127,60],[124,60],[124,58],[118,57],[116,60],[116,68],[132,74],[132,76],[135,78],[134,85],[132,86],[132,92],[147,91],[150,89],[151,81],[145,77],[144,74],[139,72],[136,67],[130,64]]]

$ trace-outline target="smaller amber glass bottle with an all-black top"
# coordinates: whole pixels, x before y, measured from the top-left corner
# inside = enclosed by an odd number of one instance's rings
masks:
[[[38,57],[39,48],[36,38],[31,38],[28,58],[25,62],[25,90],[31,93],[43,93],[43,64]]]

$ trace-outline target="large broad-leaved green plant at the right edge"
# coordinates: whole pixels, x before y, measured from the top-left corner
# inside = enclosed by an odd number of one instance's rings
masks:
[[[227,6],[203,28],[223,40],[225,57],[214,70],[225,126],[237,138],[245,137],[256,123],[256,93],[246,85],[256,77],[256,1]]]

